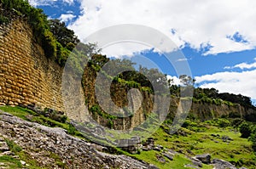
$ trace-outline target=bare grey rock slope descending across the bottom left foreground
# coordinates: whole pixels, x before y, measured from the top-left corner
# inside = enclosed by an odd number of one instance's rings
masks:
[[[125,155],[100,152],[93,144],[67,135],[64,129],[45,127],[3,112],[0,136],[15,141],[42,167],[61,168],[52,158],[57,155],[67,168],[155,168]],[[0,147],[9,150],[5,144]]]

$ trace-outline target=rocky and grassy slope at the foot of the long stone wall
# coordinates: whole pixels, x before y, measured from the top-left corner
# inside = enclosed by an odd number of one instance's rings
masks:
[[[225,119],[188,120],[172,135],[163,124],[152,138],[138,144],[138,149],[135,152],[133,149],[130,154],[119,148],[91,143],[82,132],[70,126],[69,121],[55,121],[45,116],[47,114],[19,107],[3,106],[0,110],[1,168],[185,169],[225,166],[235,169],[246,166],[253,169],[256,165],[251,143],[247,138],[241,138],[237,127]],[[204,160],[199,158],[200,155]]]

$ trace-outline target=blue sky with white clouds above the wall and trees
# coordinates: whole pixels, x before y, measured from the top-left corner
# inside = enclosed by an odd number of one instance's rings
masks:
[[[108,26],[146,25],[174,42],[197,87],[241,93],[256,101],[256,1],[253,0],[29,0],[49,18],[64,21],[79,39]],[[137,31],[137,30],[135,30]],[[166,52],[166,51],[163,51]],[[109,57],[155,58],[164,73],[177,74],[153,47],[137,42],[102,49]],[[157,61],[158,60],[158,61]],[[170,68],[170,69],[169,69]]]

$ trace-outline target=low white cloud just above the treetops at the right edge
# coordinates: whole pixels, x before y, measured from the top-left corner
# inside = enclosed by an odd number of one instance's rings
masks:
[[[235,93],[256,99],[256,70],[242,72],[218,72],[212,75],[195,76],[200,87],[216,88],[220,93]]]

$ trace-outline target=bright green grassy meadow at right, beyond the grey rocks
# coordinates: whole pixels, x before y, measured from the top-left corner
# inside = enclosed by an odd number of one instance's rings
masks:
[[[198,126],[200,125],[198,124]],[[161,127],[154,133],[155,144],[182,151],[189,156],[209,153],[212,155],[212,159],[230,161],[236,166],[253,168],[256,165],[256,155],[253,154],[251,143],[246,138],[240,138],[241,134],[234,131],[234,128],[213,127],[207,124],[203,124],[203,126],[207,128],[203,130],[204,132],[193,132],[182,128],[181,130],[186,132],[187,136],[169,135],[164,131],[164,127]],[[212,134],[218,134],[220,138],[213,137]],[[230,143],[223,142],[222,136],[228,136],[233,141]],[[192,152],[192,155],[188,150]]]

